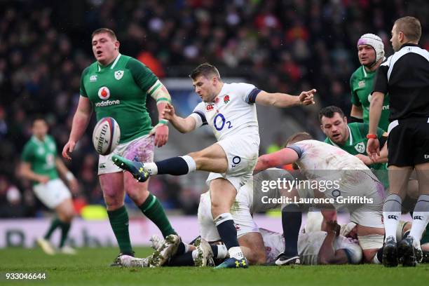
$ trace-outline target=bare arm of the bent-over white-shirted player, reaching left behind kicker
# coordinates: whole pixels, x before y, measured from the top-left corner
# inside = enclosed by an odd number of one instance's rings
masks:
[[[257,165],[254,167],[254,174],[268,168],[278,167],[281,165],[292,164],[298,160],[297,151],[290,148],[283,148],[280,151],[259,156]]]

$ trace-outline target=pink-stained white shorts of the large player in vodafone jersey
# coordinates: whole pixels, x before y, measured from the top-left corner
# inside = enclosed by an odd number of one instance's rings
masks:
[[[98,175],[108,174],[112,172],[122,172],[123,170],[111,161],[111,156],[117,154],[123,156],[128,160],[140,162],[153,162],[154,161],[154,136],[144,135],[138,137],[130,142],[118,144],[111,154],[98,158]]]

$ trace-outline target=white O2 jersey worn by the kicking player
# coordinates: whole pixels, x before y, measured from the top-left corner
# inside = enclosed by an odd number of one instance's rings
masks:
[[[210,125],[217,141],[229,135],[259,135],[254,101],[261,90],[248,83],[224,83],[214,102],[200,102],[191,116],[196,128]]]

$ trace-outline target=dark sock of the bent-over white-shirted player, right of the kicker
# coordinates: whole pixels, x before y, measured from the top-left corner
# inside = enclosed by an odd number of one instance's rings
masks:
[[[298,205],[286,205],[282,209],[282,227],[285,236],[287,257],[298,255],[298,235],[301,228],[302,212]]]

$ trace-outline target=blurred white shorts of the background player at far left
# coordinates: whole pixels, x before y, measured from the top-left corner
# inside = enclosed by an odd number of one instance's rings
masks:
[[[33,186],[36,197],[41,202],[54,209],[67,198],[71,198],[71,193],[61,179],[51,179],[46,184],[36,184]]]

